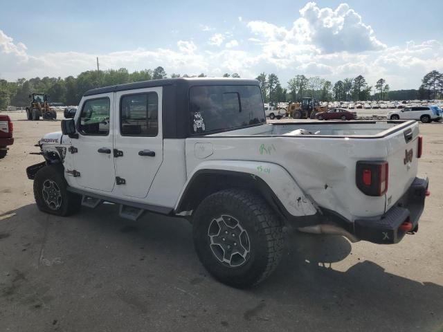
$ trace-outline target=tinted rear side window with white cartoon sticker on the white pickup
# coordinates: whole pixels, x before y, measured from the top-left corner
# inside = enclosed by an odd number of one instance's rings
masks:
[[[191,133],[266,122],[259,86],[192,86],[189,93]]]

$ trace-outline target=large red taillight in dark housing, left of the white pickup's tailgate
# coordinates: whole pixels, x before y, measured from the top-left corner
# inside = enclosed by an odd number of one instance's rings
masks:
[[[357,161],[356,185],[368,196],[383,196],[388,191],[387,161]]]

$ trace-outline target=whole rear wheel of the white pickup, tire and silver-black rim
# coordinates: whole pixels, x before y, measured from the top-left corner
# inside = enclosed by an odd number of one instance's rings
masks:
[[[278,216],[260,196],[222,190],[197,208],[192,224],[201,263],[216,279],[244,288],[259,284],[278,266],[284,248]]]

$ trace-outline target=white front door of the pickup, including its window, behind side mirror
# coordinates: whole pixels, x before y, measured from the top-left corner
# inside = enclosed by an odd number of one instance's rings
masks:
[[[72,145],[77,149],[73,165],[80,173],[75,177],[80,187],[102,192],[111,192],[114,187],[113,131],[109,126],[113,109],[114,93],[93,95],[79,105],[80,115],[76,117],[79,135]]]

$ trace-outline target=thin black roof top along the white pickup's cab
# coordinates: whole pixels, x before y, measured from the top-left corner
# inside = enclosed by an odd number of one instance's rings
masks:
[[[208,78],[208,77],[179,77],[164,78],[162,80],[150,80],[119,84],[114,86],[105,86],[103,88],[92,89],[84,95],[98,95],[100,93],[109,93],[116,91],[126,91],[143,88],[153,88],[155,86],[181,85],[185,87],[196,85],[259,85],[257,80],[246,80],[243,78]]]

